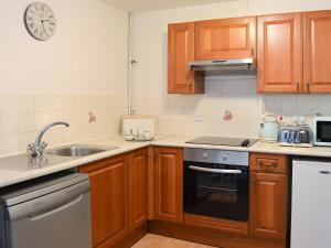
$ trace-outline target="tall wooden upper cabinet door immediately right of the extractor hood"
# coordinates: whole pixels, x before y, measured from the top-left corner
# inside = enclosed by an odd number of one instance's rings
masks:
[[[257,18],[259,93],[302,91],[301,13]]]

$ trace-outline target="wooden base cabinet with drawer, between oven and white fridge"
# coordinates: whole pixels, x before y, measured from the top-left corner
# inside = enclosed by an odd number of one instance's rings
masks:
[[[250,154],[249,234],[286,239],[287,157]]]

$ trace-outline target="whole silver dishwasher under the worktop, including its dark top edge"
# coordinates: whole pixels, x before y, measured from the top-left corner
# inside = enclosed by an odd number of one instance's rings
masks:
[[[1,190],[0,248],[92,248],[89,188],[71,172]]]

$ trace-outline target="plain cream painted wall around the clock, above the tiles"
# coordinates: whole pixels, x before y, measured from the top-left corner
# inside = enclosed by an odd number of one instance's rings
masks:
[[[31,0],[0,1],[0,93],[126,93],[128,13],[99,0],[44,2],[57,28],[40,42],[23,23]]]

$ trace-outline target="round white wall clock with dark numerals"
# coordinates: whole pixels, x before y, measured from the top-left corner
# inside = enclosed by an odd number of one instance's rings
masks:
[[[50,39],[56,29],[53,11],[42,2],[33,2],[26,8],[24,21],[29,33],[40,41]]]

